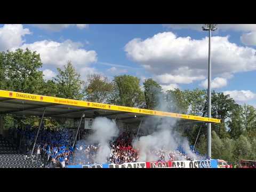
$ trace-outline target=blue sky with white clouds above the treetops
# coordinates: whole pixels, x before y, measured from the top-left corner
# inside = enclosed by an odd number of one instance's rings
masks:
[[[153,78],[164,90],[207,88],[202,25],[0,25],[0,51],[37,51],[44,78],[70,60],[82,78],[100,73]],[[256,107],[256,25],[219,25],[212,37],[212,87]]]

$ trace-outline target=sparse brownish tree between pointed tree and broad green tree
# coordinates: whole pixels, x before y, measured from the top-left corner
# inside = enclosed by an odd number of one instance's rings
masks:
[[[113,83],[107,77],[99,74],[89,75],[85,86],[86,100],[93,102],[107,102],[113,91]]]

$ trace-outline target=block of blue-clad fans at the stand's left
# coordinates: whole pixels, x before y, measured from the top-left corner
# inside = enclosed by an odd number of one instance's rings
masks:
[[[37,129],[26,126],[24,130],[18,129],[25,141],[26,153],[30,154],[33,148]],[[72,161],[74,132],[70,129],[57,129],[54,131],[41,129],[39,131],[36,148],[37,160],[44,162],[44,166],[65,167]]]

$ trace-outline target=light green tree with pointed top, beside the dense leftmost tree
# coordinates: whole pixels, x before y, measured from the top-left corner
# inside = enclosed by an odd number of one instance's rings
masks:
[[[83,98],[82,86],[84,81],[80,79],[80,74],[76,72],[72,63],[68,61],[63,70],[60,68],[57,68],[57,70],[58,74],[53,78],[57,83],[58,93],[56,96],[81,100]]]

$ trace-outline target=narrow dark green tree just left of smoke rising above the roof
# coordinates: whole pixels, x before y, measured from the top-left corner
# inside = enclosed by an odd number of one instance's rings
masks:
[[[162,87],[152,78],[146,79],[143,86],[146,108],[155,109],[159,103],[159,96],[162,93]]]

